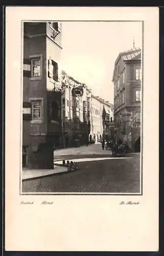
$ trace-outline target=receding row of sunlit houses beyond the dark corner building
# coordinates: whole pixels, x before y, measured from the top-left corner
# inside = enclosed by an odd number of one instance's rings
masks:
[[[94,96],[83,84],[83,95],[73,96],[74,87],[81,83],[62,71],[62,84],[65,92],[62,95],[63,137],[66,147],[77,143],[99,142],[102,139],[114,138],[114,130],[106,121],[113,121],[114,106],[104,99]]]

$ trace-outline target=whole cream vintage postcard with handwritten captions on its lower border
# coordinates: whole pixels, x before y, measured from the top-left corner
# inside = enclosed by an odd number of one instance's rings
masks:
[[[6,7],[6,250],[158,250],[158,12]]]

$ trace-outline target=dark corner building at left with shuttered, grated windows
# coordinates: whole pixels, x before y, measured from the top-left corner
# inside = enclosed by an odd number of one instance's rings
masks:
[[[23,167],[53,168],[62,143],[61,34],[58,22],[23,23]]]

